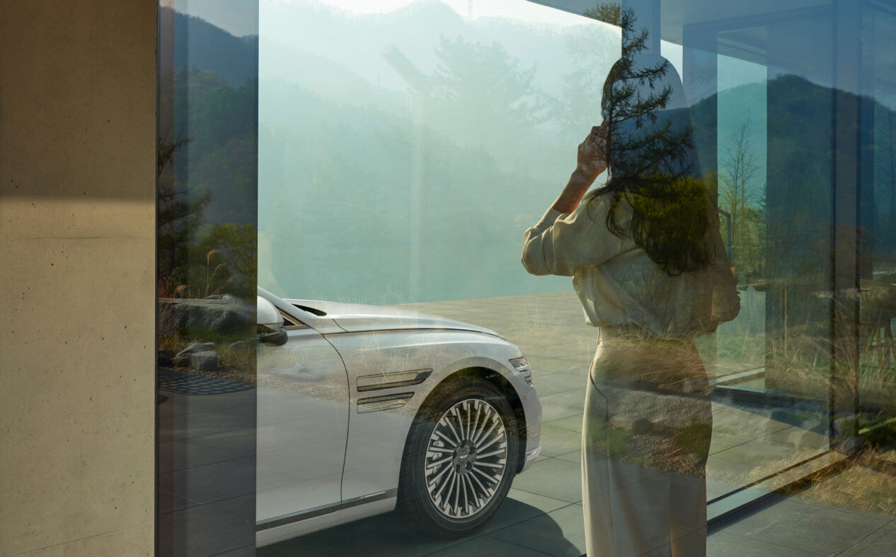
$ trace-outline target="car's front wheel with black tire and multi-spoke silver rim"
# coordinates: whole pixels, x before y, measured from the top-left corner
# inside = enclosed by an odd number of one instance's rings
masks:
[[[438,387],[411,425],[401,462],[399,507],[439,536],[482,527],[516,474],[519,434],[506,395],[463,377]]]

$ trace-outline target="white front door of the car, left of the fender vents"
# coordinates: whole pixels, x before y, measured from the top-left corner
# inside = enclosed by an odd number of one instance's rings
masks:
[[[316,330],[287,335],[281,347],[258,346],[256,522],[341,501],[345,367]]]

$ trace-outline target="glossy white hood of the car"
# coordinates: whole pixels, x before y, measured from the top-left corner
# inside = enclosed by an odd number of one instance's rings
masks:
[[[300,306],[305,311],[313,310],[324,319],[332,319],[340,328],[349,332],[361,330],[394,330],[394,329],[452,329],[471,330],[495,337],[501,337],[494,330],[470,325],[462,321],[454,321],[431,313],[415,312],[397,307],[366,304],[341,304],[339,302],[323,302],[320,300],[286,300],[289,304]],[[323,315],[322,313],[325,313]]]

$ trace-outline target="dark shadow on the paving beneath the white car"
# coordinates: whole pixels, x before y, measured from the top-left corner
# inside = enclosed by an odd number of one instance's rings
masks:
[[[522,522],[532,520],[532,526],[538,527],[538,546],[550,548],[550,554],[579,556],[582,551],[564,537],[564,533],[555,520],[530,504],[508,498],[504,501],[495,516],[489,520],[485,527],[470,536],[459,538],[443,538],[432,536],[418,531],[409,525],[401,512],[395,511],[371,518],[364,518],[339,527],[332,527],[320,532],[299,536],[291,540],[272,544],[259,548],[255,553],[258,557],[285,557],[287,555],[361,555],[363,557],[379,556],[418,556],[442,552],[455,554],[450,548],[458,546],[457,554],[478,554],[474,547],[465,547],[474,544],[480,536],[495,535],[497,544],[500,540],[510,541],[502,529],[519,525]],[[515,529],[515,528],[512,528]],[[461,545],[463,544],[463,545]],[[484,547],[484,546],[483,546]],[[517,545],[522,554],[526,552],[524,547]],[[513,552],[514,554],[517,552]],[[535,553],[535,552],[532,552]],[[442,553],[438,553],[441,555]],[[492,553],[495,554],[495,553]],[[504,554],[504,553],[501,553]],[[510,554],[510,553],[507,553]]]

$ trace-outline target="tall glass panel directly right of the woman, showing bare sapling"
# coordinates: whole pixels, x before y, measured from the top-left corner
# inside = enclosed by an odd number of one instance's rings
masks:
[[[715,24],[719,210],[741,311],[717,331],[709,489],[828,449],[831,397],[831,33],[813,9]],[[749,425],[747,425],[749,424]]]

